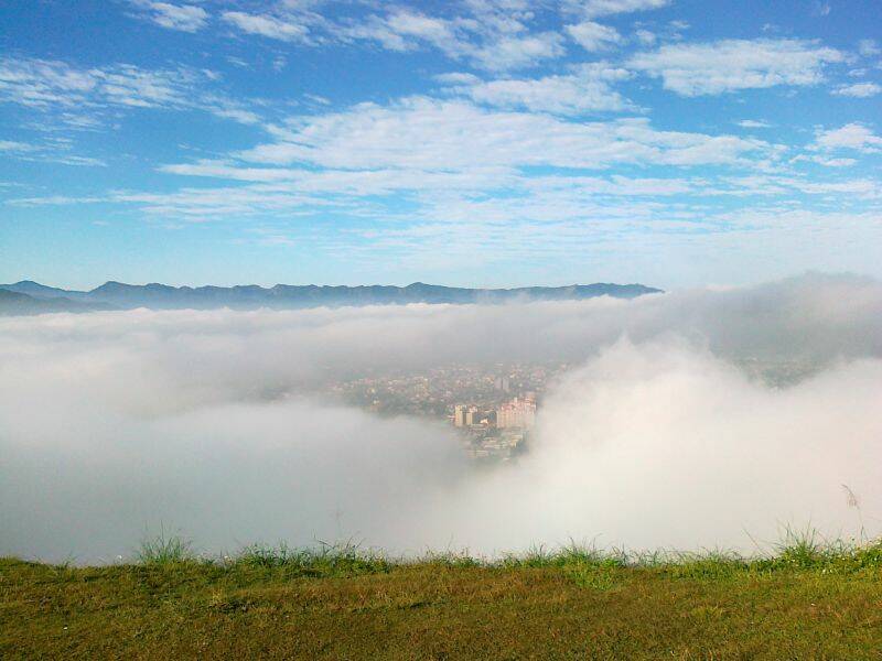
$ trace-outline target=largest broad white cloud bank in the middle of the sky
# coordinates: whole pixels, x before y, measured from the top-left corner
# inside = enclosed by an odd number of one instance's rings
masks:
[[[771,151],[765,142],[733,136],[656,131],[642,118],[573,123],[424,97],[297,118],[290,129],[277,134],[278,142],[245,151],[238,158],[255,163],[309,162],[348,169],[602,169],[613,163],[733,163],[750,153]]]

